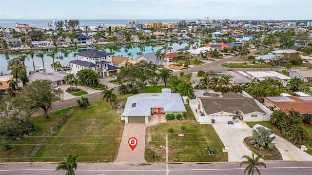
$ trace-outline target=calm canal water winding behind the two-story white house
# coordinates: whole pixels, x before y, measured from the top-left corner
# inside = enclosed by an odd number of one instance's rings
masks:
[[[47,49],[47,50],[36,50],[36,54],[34,56],[35,66],[42,65],[41,58],[37,57],[38,53],[44,54],[44,65],[46,67],[47,72],[53,72],[54,70],[51,68],[51,64],[53,60],[51,57],[47,56],[49,52],[56,52],[55,53],[55,62],[59,61],[63,66],[68,65],[69,61],[72,61],[75,58],[75,54],[81,51],[86,51],[90,49],[97,49],[103,52],[112,53],[113,56],[124,56],[128,57],[128,53],[132,54],[132,58],[137,58],[137,53],[141,52],[145,53],[152,53],[156,52],[157,50],[162,48],[162,45],[167,44],[173,48],[173,51],[180,48],[184,48],[188,45],[187,40],[182,40],[178,42],[167,42],[167,43],[132,43],[132,44],[114,44],[114,45],[102,45],[102,46],[91,46],[91,47],[75,47],[75,48],[62,48],[62,49]],[[26,54],[26,51],[12,51],[12,52],[3,52],[0,53],[0,72],[2,74],[10,74],[10,71],[7,70],[7,61],[11,58],[17,58],[20,55]],[[32,58],[28,55],[25,61],[25,66],[28,70],[33,71],[33,63]]]

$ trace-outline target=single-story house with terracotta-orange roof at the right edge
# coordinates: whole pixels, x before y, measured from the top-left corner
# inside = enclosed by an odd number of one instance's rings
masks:
[[[312,114],[312,97],[263,97],[263,104],[273,110],[282,110],[288,113],[289,110],[298,111],[300,114]]]

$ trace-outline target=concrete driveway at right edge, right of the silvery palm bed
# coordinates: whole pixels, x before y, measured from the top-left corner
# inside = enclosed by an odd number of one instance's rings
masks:
[[[312,160],[311,155],[280,136],[276,136],[272,142],[276,143],[275,147],[281,153],[283,160]]]

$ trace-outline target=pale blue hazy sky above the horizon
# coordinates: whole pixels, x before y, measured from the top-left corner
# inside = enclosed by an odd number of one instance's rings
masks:
[[[312,0],[0,0],[1,19],[312,20]]]

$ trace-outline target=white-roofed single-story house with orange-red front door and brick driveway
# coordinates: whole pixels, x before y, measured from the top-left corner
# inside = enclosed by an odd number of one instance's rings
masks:
[[[153,114],[186,112],[180,93],[162,89],[161,93],[142,93],[128,97],[121,119],[126,123],[148,123]]]

